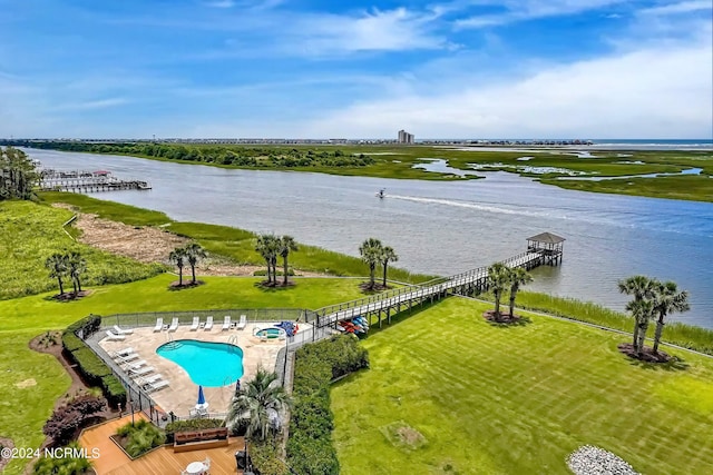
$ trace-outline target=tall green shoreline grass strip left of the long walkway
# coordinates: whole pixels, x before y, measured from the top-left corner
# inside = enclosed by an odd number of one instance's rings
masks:
[[[173,221],[165,214],[149,211],[128,205],[102,201],[79,194],[43,192],[45,202],[66,202],[82,212],[91,212],[114,221],[131,226],[163,226],[172,232],[198,241],[209,253],[223,256],[240,265],[264,265],[263,258],[255,253],[254,232],[227,226],[206,225],[202,222]],[[290,255],[290,265],[295,269],[329,274],[333,276],[359,277],[369,274],[365,264],[356,257],[326,250],[316,246],[299,245],[300,250]],[[398,243],[393,244],[397,253]],[[420,283],[434,276],[412,274],[397,267],[389,267],[389,278]]]

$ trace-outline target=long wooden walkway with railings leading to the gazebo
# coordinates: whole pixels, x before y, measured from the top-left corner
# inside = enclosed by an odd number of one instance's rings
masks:
[[[502,264],[510,268],[522,267],[533,269],[543,264],[556,265],[561,259],[561,251],[556,255],[543,250],[529,249],[518,254]],[[314,323],[316,328],[336,328],[340,321],[351,320],[355,317],[365,317],[371,324],[371,317],[378,317],[381,326],[382,315],[387,321],[391,321],[391,315],[406,309],[411,309],[426,300],[438,300],[448,294],[472,295],[488,288],[488,266],[468,270],[455,276],[445,277],[422,285],[401,287],[384,291],[371,297],[360,298],[343,304],[320,308],[307,314],[307,321]],[[315,335],[320,335],[315,333]]]

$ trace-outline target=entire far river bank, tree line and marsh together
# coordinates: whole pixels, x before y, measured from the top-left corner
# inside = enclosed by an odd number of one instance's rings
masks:
[[[88,151],[79,144],[45,144],[41,148],[69,147],[71,151]],[[541,179],[543,182],[561,188],[647,196],[654,198],[713,201],[710,184],[713,174],[713,154],[710,151],[642,151],[642,150],[587,150],[589,155],[578,155],[573,149],[546,147],[522,147],[522,151],[484,150],[478,147],[431,147],[431,146],[241,146],[241,145],[88,145],[91,152],[125,155],[153,160],[179,164],[201,164],[222,168],[248,168],[260,170],[312,171],[331,175],[368,176],[380,178],[404,178],[423,180],[462,180],[476,176],[458,177],[451,172],[429,172],[413,168],[431,158],[448,160],[452,168],[472,170],[472,165],[484,171],[501,170]],[[145,149],[168,148],[175,152],[164,156],[152,155]],[[343,162],[333,158],[310,159],[302,166],[299,159],[285,157],[333,157],[342,154]],[[223,156],[231,157],[224,160]],[[365,156],[368,160],[359,157]],[[531,157],[522,160],[522,157]],[[233,157],[243,157],[233,160]],[[348,159],[349,157],[349,159]],[[350,165],[351,159],[360,165]],[[306,158],[305,158],[306,159]],[[242,165],[241,165],[242,164]],[[619,181],[574,181],[559,180],[569,176],[624,177],[645,174],[678,174],[688,168],[703,169],[701,176],[636,178]]]

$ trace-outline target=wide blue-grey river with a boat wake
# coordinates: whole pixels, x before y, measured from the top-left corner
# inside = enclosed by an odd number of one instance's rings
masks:
[[[394,247],[400,267],[417,273],[489,265],[524,251],[527,237],[551,231],[567,239],[564,263],[534,270],[528,289],[623,309],[627,297],[617,280],[645,274],[691,293],[691,311],[674,319],[713,328],[713,204],[570,191],[506,172],[434,182],[26,151],[48,168],[107,169],[153,186],[97,198],[176,220],[290,234],[352,256],[377,237]],[[385,199],[374,196],[381,188]]]

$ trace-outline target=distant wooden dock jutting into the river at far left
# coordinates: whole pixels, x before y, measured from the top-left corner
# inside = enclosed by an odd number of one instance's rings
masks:
[[[152,186],[145,180],[126,180],[111,176],[109,171],[59,171],[40,172],[40,190],[96,192],[115,190],[148,190]]]

